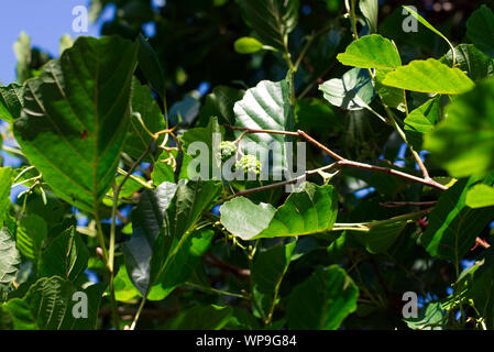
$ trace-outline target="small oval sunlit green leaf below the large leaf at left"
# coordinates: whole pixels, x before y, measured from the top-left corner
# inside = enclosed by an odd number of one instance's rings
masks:
[[[17,245],[28,260],[37,261],[42,244],[48,234],[46,221],[32,213],[22,218],[17,232]]]

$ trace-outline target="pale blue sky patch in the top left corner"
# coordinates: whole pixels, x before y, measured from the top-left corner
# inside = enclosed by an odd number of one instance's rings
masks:
[[[15,55],[13,43],[24,31],[31,36],[32,46],[37,46],[52,56],[58,56],[58,42],[64,34],[99,36],[106,19],[113,16],[109,8],[97,23],[89,23],[87,33],[73,31],[73,9],[87,7],[89,0],[10,0],[0,6],[0,82],[8,85],[15,79]]]

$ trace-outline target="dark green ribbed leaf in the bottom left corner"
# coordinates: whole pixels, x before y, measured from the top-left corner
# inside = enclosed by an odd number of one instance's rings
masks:
[[[73,300],[77,289],[62,277],[39,279],[21,298],[2,306],[13,320],[15,330],[94,330],[98,318],[102,286],[92,285],[84,290],[88,297],[88,317],[76,319]],[[77,307],[76,307],[77,308]]]

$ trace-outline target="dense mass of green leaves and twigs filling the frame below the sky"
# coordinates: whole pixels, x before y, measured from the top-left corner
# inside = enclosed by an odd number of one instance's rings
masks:
[[[0,329],[494,329],[488,7],[453,40],[409,8],[381,19],[377,0],[118,6],[112,35],[64,37],[57,59],[15,44]],[[211,94],[186,92],[202,80]],[[297,191],[212,174],[223,156],[287,168],[244,145],[288,157],[295,138],[314,146]],[[208,179],[191,174],[195,142]]]

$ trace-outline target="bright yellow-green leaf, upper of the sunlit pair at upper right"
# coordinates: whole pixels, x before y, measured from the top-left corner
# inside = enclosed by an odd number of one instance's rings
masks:
[[[392,41],[372,34],[352,42],[344,53],[338,54],[338,61],[347,66],[360,68],[396,68],[402,58]]]

